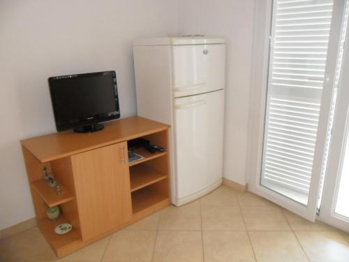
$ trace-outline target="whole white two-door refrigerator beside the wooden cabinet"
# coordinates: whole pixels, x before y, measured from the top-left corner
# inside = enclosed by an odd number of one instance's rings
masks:
[[[193,201],[223,180],[225,40],[134,41],[138,115],[171,125],[171,200]]]

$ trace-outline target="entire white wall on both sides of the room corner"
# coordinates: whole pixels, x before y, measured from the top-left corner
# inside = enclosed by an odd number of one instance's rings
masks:
[[[55,131],[47,78],[115,70],[135,115],[132,40],[177,31],[228,41],[224,173],[245,184],[253,0],[2,0],[0,230],[34,217],[19,141]]]

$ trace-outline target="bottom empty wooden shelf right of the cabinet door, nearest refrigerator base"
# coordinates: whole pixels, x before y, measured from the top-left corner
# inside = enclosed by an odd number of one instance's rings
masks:
[[[169,201],[169,198],[149,187],[134,191],[132,193],[133,214],[151,208],[153,205],[157,205],[163,201]]]

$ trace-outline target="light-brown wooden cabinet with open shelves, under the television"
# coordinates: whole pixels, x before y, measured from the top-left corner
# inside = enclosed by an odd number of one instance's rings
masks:
[[[142,117],[104,125],[96,133],[65,131],[21,141],[38,226],[59,258],[170,205],[170,126]],[[165,152],[138,149],[144,159],[128,163],[127,141],[140,137]],[[43,168],[61,184],[60,196],[43,180]],[[46,210],[55,205],[61,217],[51,221]],[[54,233],[64,222],[72,231]]]

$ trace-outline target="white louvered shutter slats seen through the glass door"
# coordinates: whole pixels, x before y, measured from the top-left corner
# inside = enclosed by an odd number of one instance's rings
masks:
[[[333,0],[276,0],[262,184],[308,194]]]

